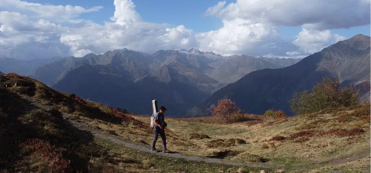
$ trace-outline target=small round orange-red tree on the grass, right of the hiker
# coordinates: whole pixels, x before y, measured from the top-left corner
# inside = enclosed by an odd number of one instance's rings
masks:
[[[211,116],[225,123],[233,122],[237,115],[242,114],[242,111],[230,99],[220,99],[217,107],[213,106],[210,112]]]

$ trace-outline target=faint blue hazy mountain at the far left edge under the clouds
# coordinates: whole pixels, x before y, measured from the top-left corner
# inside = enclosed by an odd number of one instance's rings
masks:
[[[26,61],[12,58],[0,58],[0,69],[4,73],[27,75],[34,69],[52,63],[58,59],[62,59],[62,57],[54,57],[49,59],[32,59]]]

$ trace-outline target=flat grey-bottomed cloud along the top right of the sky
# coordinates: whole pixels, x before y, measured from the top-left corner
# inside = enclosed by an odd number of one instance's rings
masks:
[[[313,29],[339,29],[371,24],[370,0],[237,0],[210,7],[206,14],[237,17],[274,26],[312,25]]]

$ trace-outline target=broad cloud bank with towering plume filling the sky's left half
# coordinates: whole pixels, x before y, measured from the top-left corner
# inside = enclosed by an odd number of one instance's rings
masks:
[[[122,48],[153,53],[158,49],[198,46],[193,31],[183,25],[172,27],[143,22],[131,0],[115,0],[114,5],[115,12],[110,18],[113,22],[99,25],[76,19],[76,16],[101,7],[84,9],[19,0],[1,1],[1,9],[9,11],[0,12],[0,57],[50,58],[51,51],[55,51],[54,56],[81,57],[87,53],[99,54]],[[60,16],[61,19],[56,20]],[[29,45],[36,48],[22,50]],[[45,52],[40,51],[42,48],[45,48]],[[30,51],[29,55],[26,55],[26,50]]]

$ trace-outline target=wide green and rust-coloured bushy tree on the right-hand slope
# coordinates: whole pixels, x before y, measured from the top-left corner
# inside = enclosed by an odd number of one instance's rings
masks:
[[[338,78],[335,81],[326,77],[317,82],[308,90],[294,92],[289,100],[290,108],[295,114],[306,114],[324,110],[326,108],[351,107],[360,104],[360,91],[352,84],[341,88]]]

